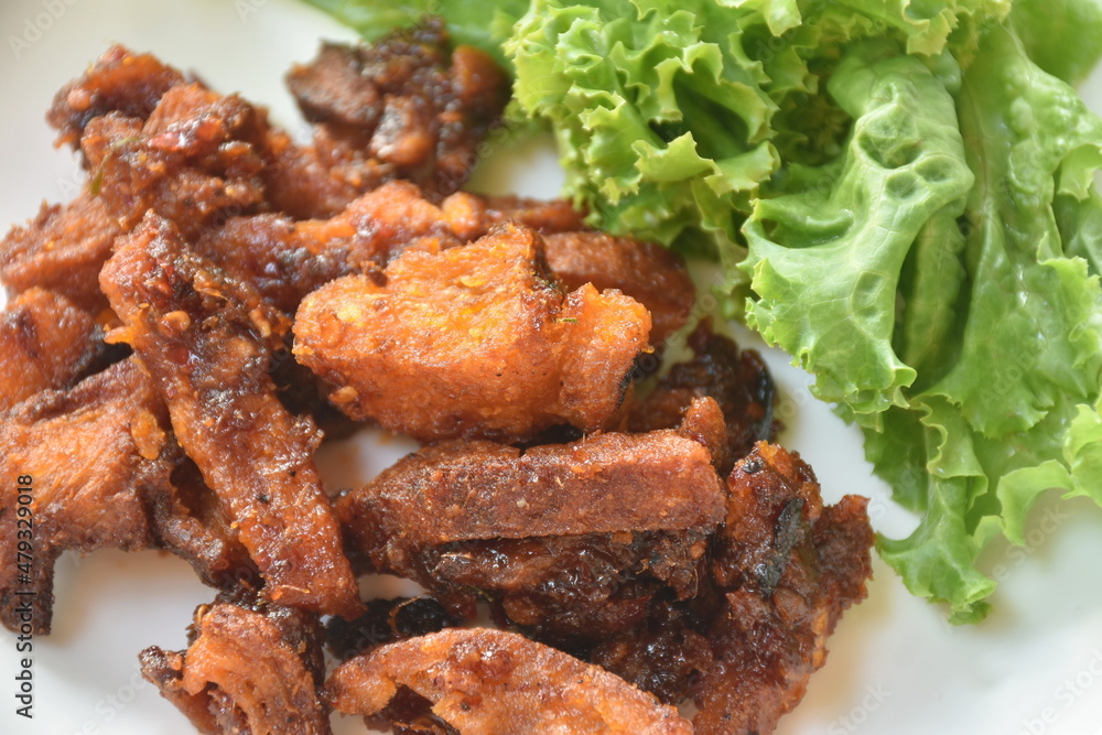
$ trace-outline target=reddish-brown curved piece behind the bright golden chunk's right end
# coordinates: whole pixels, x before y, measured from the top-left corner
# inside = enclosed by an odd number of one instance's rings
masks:
[[[619,289],[650,310],[650,343],[662,345],[689,321],[696,289],[684,261],[653,242],[604,233],[545,236],[548,267],[568,289]]]

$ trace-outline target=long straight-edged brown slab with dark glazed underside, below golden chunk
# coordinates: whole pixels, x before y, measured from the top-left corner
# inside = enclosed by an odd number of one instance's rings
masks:
[[[445,442],[336,512],[363,566],[414,580],[452,615],[485,598],[541,638],[588,639],[639,623],[659,590],[696,594],[724,507],[710,462],[673,431],[527,451]]]

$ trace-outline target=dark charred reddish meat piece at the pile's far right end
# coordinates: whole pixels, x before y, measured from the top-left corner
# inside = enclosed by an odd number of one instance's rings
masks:
[[[866,499],[845,496],[824,508],[798,455],[759,443],[728,487],[711,549],[712,591],[656,605],[646,625],[588,656],[663,701],[692,698],[703,735],[773,732],[872,575]]]

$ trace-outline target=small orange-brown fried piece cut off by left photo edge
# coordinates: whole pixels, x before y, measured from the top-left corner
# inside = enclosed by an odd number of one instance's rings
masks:
[[[0,313],[0,413],[76,382],[102,350],[91,316],[64,296],[28,289]]]

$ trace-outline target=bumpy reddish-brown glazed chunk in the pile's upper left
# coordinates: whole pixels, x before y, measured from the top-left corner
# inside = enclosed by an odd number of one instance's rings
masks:
[[[180,84],[142,121],[112,112],[85,127],[89,184],[129,230],[153,210],[185,235],[264,201],[263,110],[236,95]]]

